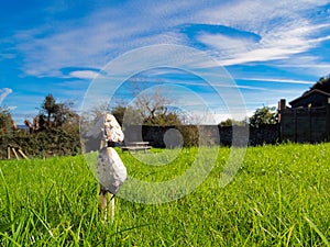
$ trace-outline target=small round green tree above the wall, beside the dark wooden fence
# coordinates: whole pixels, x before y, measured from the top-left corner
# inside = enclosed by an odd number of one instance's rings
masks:
[[[276,108],[263,106],[256,109],[254,114],[250,117],[250,125],[252,127],[260,127],[265,124],[276,124],[277,123],[277,112]]]

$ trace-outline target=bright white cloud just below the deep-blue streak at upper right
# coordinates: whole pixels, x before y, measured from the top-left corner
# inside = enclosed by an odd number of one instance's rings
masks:
[[[244,38],[219,37],[219,35],[204,35],[201,41],[221,50],[220,64],[238,65],[251,61],[270,61],[288,59],[294,55],[308,52],[329,36],[310,38],[309,36],[323,25],[305,27],[280,27],[265,33],[260,43]]]

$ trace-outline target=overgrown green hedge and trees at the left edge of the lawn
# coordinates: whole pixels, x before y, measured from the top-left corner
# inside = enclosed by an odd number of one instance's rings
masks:
[[[72,106],[70,103],[56,103],[54,97],[48,94],[40,116],[35,117],[37,125],[35,121],[33,126],[30,124],[30,133],[13,131],[10,111],[0,109],[0,159],[7,157],[9,145],[21,148],[30,157],[79,154],[79,117]]]

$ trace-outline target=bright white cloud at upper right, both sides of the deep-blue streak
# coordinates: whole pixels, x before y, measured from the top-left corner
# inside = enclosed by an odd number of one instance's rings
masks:
[[[282,60],[285,64],[290,57],[329,40],[329,35],[318,35],[329,29],[330,24],[318,23],[304,14],[324,3],[277,1],[265,4],[263,1],[235,1],[233,4],[216,5],[201,11],[200,19],[210,24],[253,32],[262,40],[254,43],[245,38],[207,34],[199,36],[199,41],[215,48],[211,54],[218,56],[222,65],[270,60]]]

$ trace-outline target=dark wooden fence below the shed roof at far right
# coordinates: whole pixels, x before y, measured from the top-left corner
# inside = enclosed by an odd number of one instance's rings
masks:
[[[295,143],[318,143],[330,141],[330,104],[318,108],[278,105],[279,139]]]

